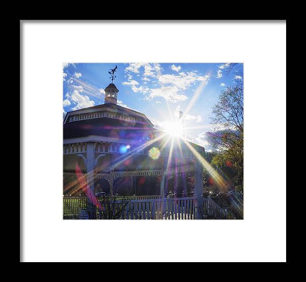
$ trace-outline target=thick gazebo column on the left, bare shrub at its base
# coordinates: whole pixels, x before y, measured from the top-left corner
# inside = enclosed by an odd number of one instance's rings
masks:
[[[95,219],[94,201],[94,142],[87,143],[86,150],[86,167],[87,167],[87,197],[89,219]]]

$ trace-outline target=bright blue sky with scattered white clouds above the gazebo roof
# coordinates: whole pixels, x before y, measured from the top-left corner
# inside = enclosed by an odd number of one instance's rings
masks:
[[[227,71],[226,63],[65,63],[63,112],[104,103],[117,65],[117,104],[143,112],[156,128],[166,130],[184,112],[186,139],[210,151],[205,133],[212,106],[227,86],[240,79],[242,68]]]

